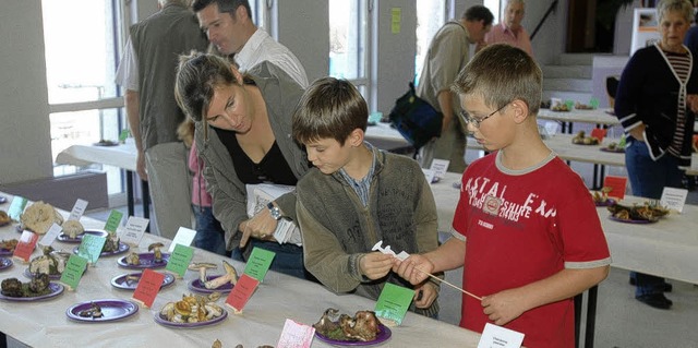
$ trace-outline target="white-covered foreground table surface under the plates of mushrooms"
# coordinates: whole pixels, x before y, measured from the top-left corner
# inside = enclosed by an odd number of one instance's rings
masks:
[[[11,202],[12,196],[8,196]],[[7,209],[9,204],[0,206]],[[62,212],[67,216],[65,212]],[[83,217],[81,221],[88,228],[101,228],[103,221]],[[0,239],[17,238],[14,225],[0,227]],[[145,235],[137,249],[147,252],[147,245],[161,241],[169,247],[171,241],[157,236]],[[75,244],[56,242],[57,249],[72,250]],[[35,251],[34,256],[39,252]],[[177,329],[157,324],[154,315],[165,303],[181,299],[190,292],[189,281],[197,278],[197,273],[188,272],[183,279],[163,289],[153,309],[140,307],[139,313],[112,323],[76,323],[65,316],[65,310],[83,301],[96,299],[130,300],[133,292],[119,290],[110,285],[111,278],[134,271],[120,268],[117,260],[121,256],[101,257],[85,273],[75,291],[68,291],[57,298],[38,302],[0,301],[0,332],[32,347],[160,347],[177,343],[177,347],[210,347],[220,339],[224,347],[276,345],[286,319],[304,324],[317,322],[327,308],[353,314],[359,310],[373,310],[375,301],[354,295],[335,295],[320,284],[269,272],[264,283],[245,305],[242,314],[228,311],[224,322],[196,329]],[[195,249],[194,261],[213,262],[219,265],[222,256]],[[225,259],[239,273],[244,264]],[[16,277],[27,281],[22,273],[26,265],[16,263],[0,271],[0,278]],[[215,274],[216,272],[210,272]],[[222,303],[222,299],[219,303]],[[408,313],[401,326],[392,328],[393,336],[382,347],[477,347],[480,335],[458,326]],[[313,347],[330,347],[318,339]]]

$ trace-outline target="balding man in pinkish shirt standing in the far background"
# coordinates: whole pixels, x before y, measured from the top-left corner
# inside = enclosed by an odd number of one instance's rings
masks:
[[[492,31],[484,36],[484,41],[491,44],[509,44],[525,50],[533,57],[531,38],[521,26],[526,2],[524,0],[508,0],[504,8],[504,21],[492,26]]]

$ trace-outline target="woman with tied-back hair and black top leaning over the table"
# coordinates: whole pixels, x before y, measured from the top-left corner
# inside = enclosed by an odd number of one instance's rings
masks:
[[[243,75],[227,58],[192,53],[181,58],[174,92],[196,123],[194,143],[226,249],[240,261],[249,260],[254,247],[272,251],[273,271],[305,278],[303,249],[274,237],[280,219],[296,220],[294,192],[248,217],[248,185],[294,187],[308,171],[308,156],[291,137],[291,115],[303,88],[270,62]]]

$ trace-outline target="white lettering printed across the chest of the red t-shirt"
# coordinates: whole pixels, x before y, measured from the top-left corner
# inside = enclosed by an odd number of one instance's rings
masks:
[[[545,200],[532,192],[528,194],[525,202],[509,202],[505,196],[506,189],[506,184],[477,177],[468,179],[461,190],[468,191],[468,203],[471,206],[509,221],[528,219],[531,217],[531,212],[543,217],[555,217],[557,214],[555,207],[549,207]]]

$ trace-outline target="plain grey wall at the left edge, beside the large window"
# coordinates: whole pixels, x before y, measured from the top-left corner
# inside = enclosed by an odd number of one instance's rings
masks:
[[[52,176],[40,0],[0,11],[0,185]]]

